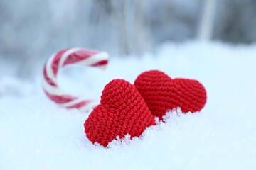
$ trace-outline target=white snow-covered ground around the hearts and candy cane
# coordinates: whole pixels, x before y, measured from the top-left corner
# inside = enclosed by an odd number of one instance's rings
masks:
[[[42,63],[41,63],[42,64]],[[70,94],[99,99],[112,79],[134,82],[160,69],[198,79],[208,101],[200,113],[168,113],[167,123],[110,149],[85,137],[88,113],[58,108],[34,82],[0,78],[0,169],[255,169],[256,46],[165,44],[156,55],[110,58],[107,70],[67,68],[59,77]],[[72,86],[76,86],[72,89]]]

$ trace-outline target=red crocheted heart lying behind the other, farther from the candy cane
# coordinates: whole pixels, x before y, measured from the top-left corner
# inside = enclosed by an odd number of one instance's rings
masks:
[[[183,112],[201,111],[206,103],[206,89],[196,80],[171,79],[158,70],[143,72],[134,86],[153,115],[162,120],[166,111],[181,107]]]

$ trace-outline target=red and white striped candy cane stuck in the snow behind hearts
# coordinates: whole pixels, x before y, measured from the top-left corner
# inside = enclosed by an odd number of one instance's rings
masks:
[[[59,106],[78,108],[80,111],[87,111],[90,108],[94,108],[99,102],[64,94],[58,87],[57,75],[60,69],[70,64],[105,69],[107,62],[107,52],[97,52],[82,48],[69,48],[56,52],[47,60],[43,67],[43,90]]]

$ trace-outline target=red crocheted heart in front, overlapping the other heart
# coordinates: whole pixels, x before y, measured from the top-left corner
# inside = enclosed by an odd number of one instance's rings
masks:
[[[112,80],[105,86],[100,105],[84,124],[86,137],[104,147],[117,136],[138,137],[150,125],[155,125],[154,115],[135,86],[122,79]]]

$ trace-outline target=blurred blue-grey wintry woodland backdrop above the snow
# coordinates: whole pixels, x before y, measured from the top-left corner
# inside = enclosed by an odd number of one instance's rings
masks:
[[[255,16],[255,0],[0,0],[0,76],[31,79],[67,47],[139,57],[166,41],[249,45]]]

